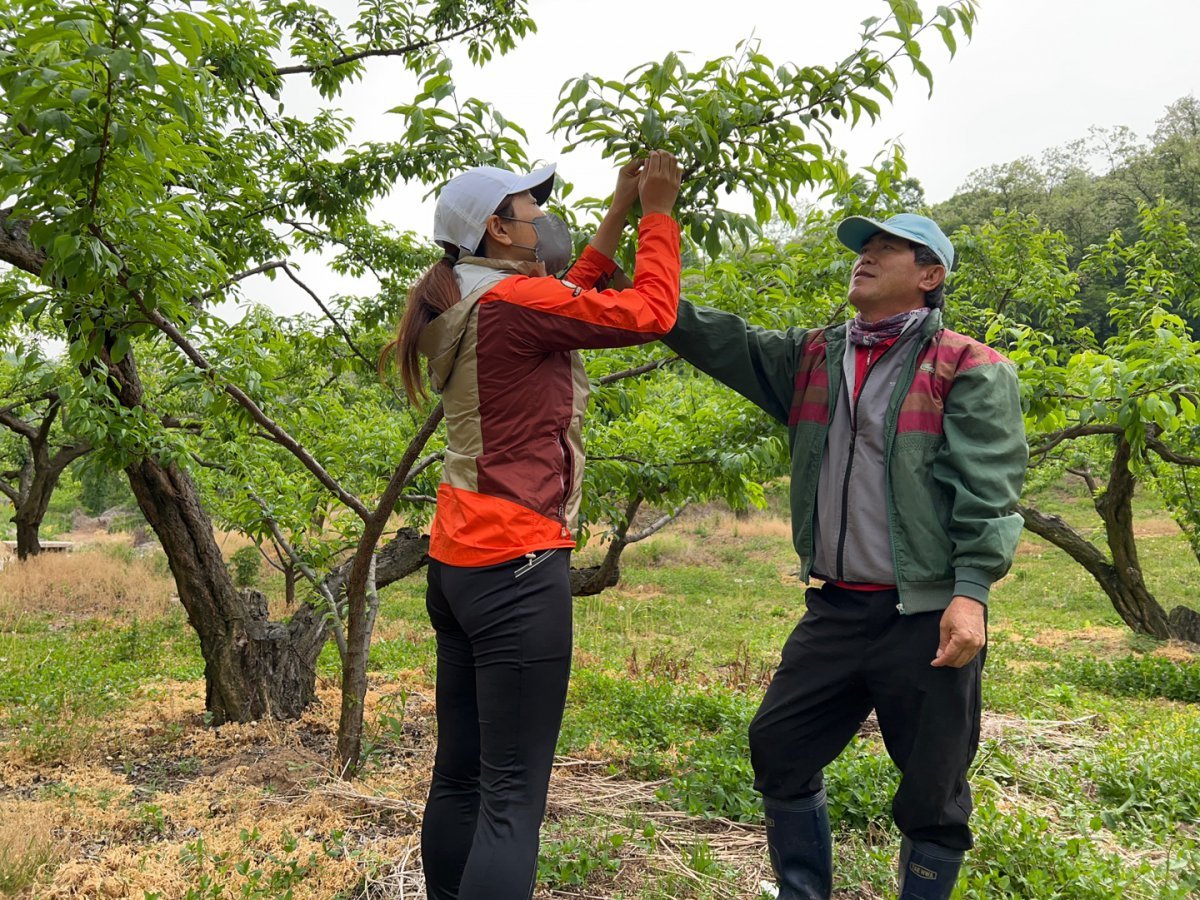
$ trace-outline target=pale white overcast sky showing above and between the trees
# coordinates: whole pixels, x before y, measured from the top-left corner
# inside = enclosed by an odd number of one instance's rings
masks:
[[[923,6],[931,12],[937,0]],[[353,0],[326,0],[343,20]],[[554,160],[575,182],[575,196],[606,196],[614,169],[586,151],[562,155],[563,140],[547,132],[562,84],[588,72],[620,78],[628,70],[686,50],[698,62],[734,52],[751,34],[776,65],[833,64],[857,43],[859,23],[887,12],[883,0],[530,0],[538,32],[482,70],[456,56],[458,94],[492,101],[530,138],[530,158]],[[974,40],[960,41],[953,61],[937,35],[926,42],[934,94],[901,71],[896,102],[875,126],[845,136],[851,162],[865,164],[890,139],[906,149],[910,174],[930,202],[954,193],[984,166],[1085,137],[1088,127],[1127,125],[1153,131],[1166,104],[1200,94],[1200,2],[1196,0],[984,0]],[[354,140],[392,139],[398,116],[385,110],[406,102],[415,82],[398,61],[368,61],[368,74],[336,101],[355,119]],[[292,76],[284,100],[293,114],[319,101]],[[379,203],[379,221],[427,234],[432,202],[424,190],[400,186]],[[737,204],[734,204],[737,205]],[[319,259],[304,260],[302,277],[319,294],[368,293],[368,282],[334,276]],[[317,312],[287,280],[247,283],[247,295],[280,312]],[[232,312],[232,311],[230,311]]]

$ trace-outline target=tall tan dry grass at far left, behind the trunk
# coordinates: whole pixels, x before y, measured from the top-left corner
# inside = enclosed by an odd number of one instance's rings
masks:
[[[0,630],[29,614],[149,622],[167,613],[174,593],[174,580],[148,557],[41,553],[0,571]]]

